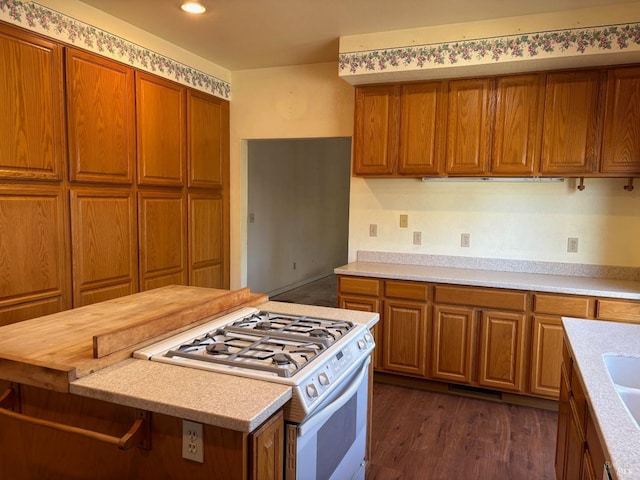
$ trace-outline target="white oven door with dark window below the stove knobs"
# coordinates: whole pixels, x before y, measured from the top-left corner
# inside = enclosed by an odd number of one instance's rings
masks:
[[[364,479],[370,357],[300,424],[287,425],[287,480]]]

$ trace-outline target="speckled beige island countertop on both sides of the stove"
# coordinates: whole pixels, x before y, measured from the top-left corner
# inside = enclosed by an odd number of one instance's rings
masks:
[[[377,313],[283,302],[256,308],[369,327],[379,319]],[[70,392],[247,433],[291,399],[288,385],[133,358],[71,382]]]

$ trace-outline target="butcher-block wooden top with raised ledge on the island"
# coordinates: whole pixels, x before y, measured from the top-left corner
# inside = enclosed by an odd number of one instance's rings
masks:
[[[170,285],[0,327],[0,378],[68,392],[69,382],[144,345],[268,297]]]

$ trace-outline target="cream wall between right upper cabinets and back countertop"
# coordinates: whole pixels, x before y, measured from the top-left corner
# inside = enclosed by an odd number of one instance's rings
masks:
[[[640,267],[640,188],[625,179],[423,183],[352,179],[349,260],[358,250]],[[400,214],[409,227],[400,228]],[[378,236],[369,236],[369,225]],[[413,245],[413,232],[422,245]],[[460,246],[460,234],[471,246]],[[568,237],[579,239],[567,253]]]

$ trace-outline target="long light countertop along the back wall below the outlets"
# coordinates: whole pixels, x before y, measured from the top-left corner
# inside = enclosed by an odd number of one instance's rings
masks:
[[[639,281],[611,278],[367,261],[349,263],[336,268],[334,273],[394,280],[414,280],[640,300]]]

